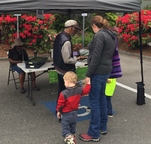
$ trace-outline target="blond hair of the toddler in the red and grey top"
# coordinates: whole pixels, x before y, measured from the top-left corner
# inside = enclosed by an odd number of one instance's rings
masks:
[[[77,75],[72,71],[66,72],[65,75],[63,76],[63,79],[74,84],[77,83]]]

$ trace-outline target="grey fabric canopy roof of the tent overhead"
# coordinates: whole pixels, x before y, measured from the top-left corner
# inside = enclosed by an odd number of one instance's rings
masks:
[[[35,13],[92,13],[101,11],[140,11],[140,0],[0,0],[0,14]]]

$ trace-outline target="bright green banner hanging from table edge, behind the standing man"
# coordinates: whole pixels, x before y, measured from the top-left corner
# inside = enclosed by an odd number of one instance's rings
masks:
[[[76,74],[78,77],[78,80],[83,80],[85,78],[85,74],[88,70],[87,66],[84,67],[77,67],[76,68]],[[58,82],[58,74],[56,70],[50,70],[49,71],[49,83],[57,83]]]

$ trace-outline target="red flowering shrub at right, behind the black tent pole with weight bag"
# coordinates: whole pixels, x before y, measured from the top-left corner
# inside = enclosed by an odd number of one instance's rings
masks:
[[[141,11],[142,44],[151,42],[151,10]],[[139,14],[134,12],[117,19],[118,32],[129,47],[137,47],[139,42]]]

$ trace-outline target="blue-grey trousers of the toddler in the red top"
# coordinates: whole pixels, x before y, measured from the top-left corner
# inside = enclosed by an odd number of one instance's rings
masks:
[[[62,136],[73,135],[76,133],[77,111],[64,113],[61,115]]]

